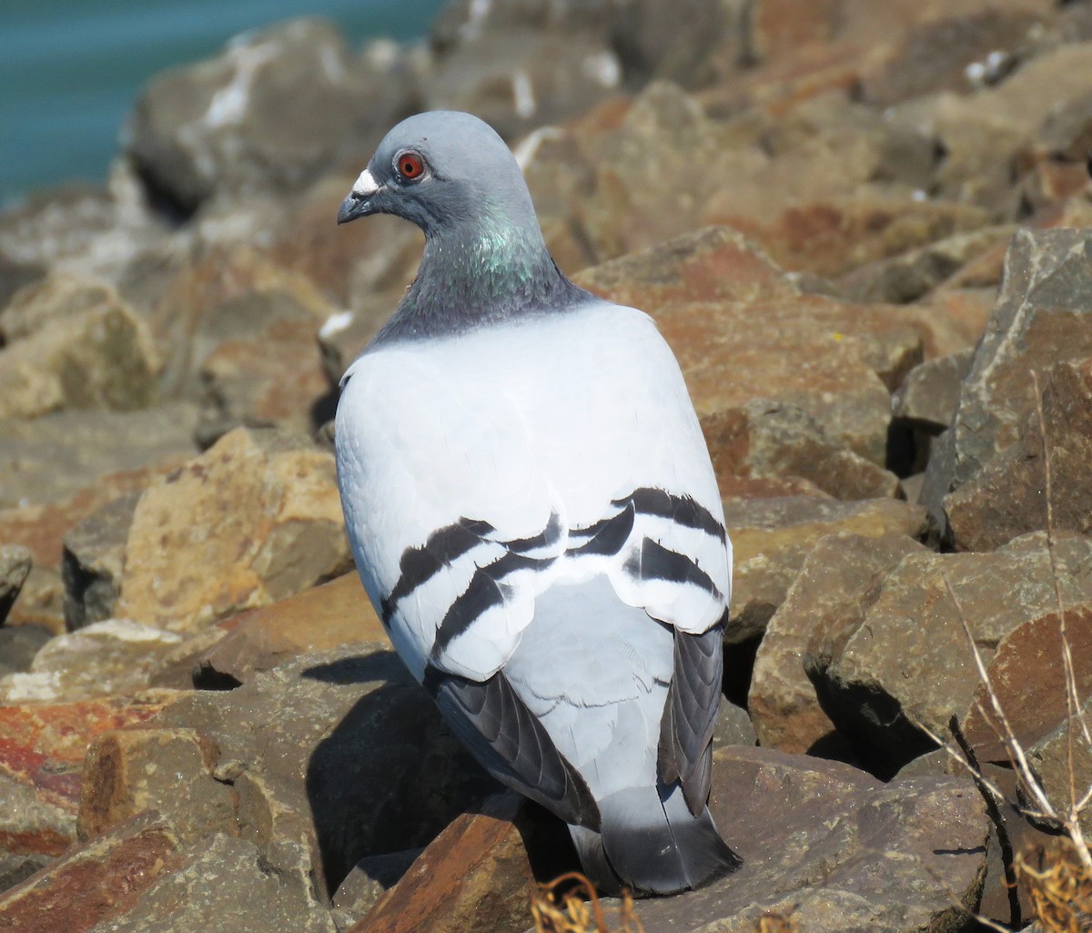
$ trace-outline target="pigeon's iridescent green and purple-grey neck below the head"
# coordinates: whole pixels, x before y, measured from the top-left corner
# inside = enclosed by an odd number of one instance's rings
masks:
[[[533,214],[523,224],[484,216],[426,234],[417,277],[376,342],[559,314],[581,297],[586,293],[557,268]]]

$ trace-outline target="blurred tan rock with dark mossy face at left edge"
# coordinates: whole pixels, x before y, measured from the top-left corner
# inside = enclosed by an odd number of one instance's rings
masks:
[[[136,312],[103,305],[0,349],[0,417],[147,408],[162,365]]]

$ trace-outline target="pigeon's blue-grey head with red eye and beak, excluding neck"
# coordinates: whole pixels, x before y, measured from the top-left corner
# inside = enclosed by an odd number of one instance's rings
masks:
[[[534,223],[531,196],[505,141],[477,117],[453,110],[417,114],[383,138],[337,223],[369,214],[404,217],[426,235],[486,219]]]

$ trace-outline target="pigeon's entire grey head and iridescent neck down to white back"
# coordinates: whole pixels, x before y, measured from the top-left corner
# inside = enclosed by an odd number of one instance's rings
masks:
[[[376,343],[556,314],[590,298],[546,250],[515,157],[470,114],[418,114],[384,137],[337,223],[380,213],[417,224],[425,255]]]

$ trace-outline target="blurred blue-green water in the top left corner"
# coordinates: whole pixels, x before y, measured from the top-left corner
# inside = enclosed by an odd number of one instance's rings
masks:
[[[126,114],[157,71],[295,16],[359,46],[424,36],[443,0],[0,0],[0,203],[102,181]]]

